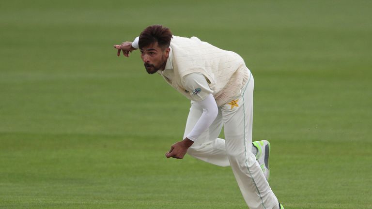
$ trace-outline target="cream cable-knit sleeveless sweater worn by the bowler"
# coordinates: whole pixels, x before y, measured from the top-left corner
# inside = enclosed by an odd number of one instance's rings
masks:
[[[166,81],[190,100],[191,92],[182,82],[188,74],[202,73],[206,77],[217,106],[230,102],[251,75],[238,54],[202,42],[197,37],[173,36],[171,48],[174,77]]]

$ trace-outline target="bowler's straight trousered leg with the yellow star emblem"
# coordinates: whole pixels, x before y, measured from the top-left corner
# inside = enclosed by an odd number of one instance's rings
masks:
[[[250,209],[277,209],[278,199],[251,152],[253,123],[251,76],[243,95],[221,107],[226,151],[240,191]]]

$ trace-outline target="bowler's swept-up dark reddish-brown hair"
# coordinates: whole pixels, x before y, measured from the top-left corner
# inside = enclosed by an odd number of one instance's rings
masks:
[[[157,42],[160,48],[165,49],[169,47],[171,38],[172,32],[169,28],[162,25],[152,25],[141,32],[138,45],[143,48]]]

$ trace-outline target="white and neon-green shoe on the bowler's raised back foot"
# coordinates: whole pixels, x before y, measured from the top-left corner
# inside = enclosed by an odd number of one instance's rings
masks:
[[[270,178],[269,170],[269,155],[270,155],[270,142],[267,140],[252,142],[253,146],[257,148],[256,160],[260,164],[263,175],[268,181]]]

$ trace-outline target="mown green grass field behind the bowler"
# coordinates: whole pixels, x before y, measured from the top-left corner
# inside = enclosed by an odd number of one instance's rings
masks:
[[[189,102],[138,51],[152,24],[239,53],[286,209],[372,209],[372,2],[0,3],[1,209],[246,209],[229,167],[166,159]]]

